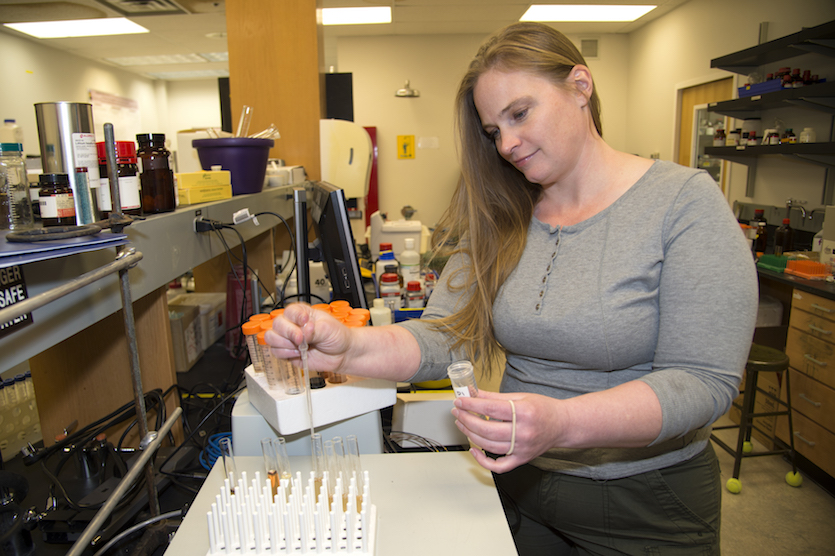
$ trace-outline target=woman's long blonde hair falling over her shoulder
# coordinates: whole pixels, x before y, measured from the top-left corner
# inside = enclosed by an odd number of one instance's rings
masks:
[[[472,292],[452,315],[434,321],[453,337],[453,349],[489,372],[502,355],[493,330],[493,302],[525,249],[528,225],[541,189],[527,181],[496,151],[481,126],[473,91],[481,75],[497,68],[526,71],[567,86],[571,69],[585,60],[562,33],[541,23],[515,23],[479,49],[461,80],[455,100],[461,179],[432,238],[435,255],[464,255],[465,265],[449,283]],[[602,136],[600,101],[592,87],[589,108]]]

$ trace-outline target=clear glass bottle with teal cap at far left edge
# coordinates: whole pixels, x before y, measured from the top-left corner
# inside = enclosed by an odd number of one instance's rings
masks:
[[[0,143],[0,230],[28,230],[34,225],[23,146]]]

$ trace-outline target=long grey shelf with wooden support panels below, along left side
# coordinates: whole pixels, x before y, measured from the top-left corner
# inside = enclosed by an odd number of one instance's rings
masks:
[[[143,255],[128,276],[146,391],[165,391],[176,382],[168,284],[190,270],[203,269],[204,282],[212,282],[204,291],[226,288],[229,263],[224,244],[217,234],[196,233],[195,218],[231,222],[232,215],[244,208],[253,214],[274,212],[290,218],[291,189],[269,188],[252,195],[190,205],[148,216],[124,229],[128,247]],[[260,217],[259,222],[256,226],[250,220],[235,229],[247,244],[250,266],[271,285],[275,281],[272,231],[281,222],[270,215]],[[230,247],[240,245],[237,234],[224,234]],[[22,269],[28,297],[101,268],[113,262],[115,255],[113,249],[101,249],[25,264]],[[219,284],[222,289],[213,289]],[[110,276],[33,311],[32,324],[0,339],[0,372],[29,361],[44,438],[54,437],[74,419],[81,424],[92,422],[133,399],[129,381],[124,379],[129,360],[121,307],[118,277]],[[171,396],[166,405],[173,410],[178,401]]]

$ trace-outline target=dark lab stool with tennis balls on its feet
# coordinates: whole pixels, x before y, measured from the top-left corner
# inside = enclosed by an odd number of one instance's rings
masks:
[[[799,487],[803,482],[803,477],[797,472],[797,465],[795,464],[794,457],[794,435],[791,434],[791,431],[793,431],[794,428],[792,425],[791,385],[789,383],[789,373],[787,372],[788,368],[789,357],[782,351],[761,346],[759,344],[751,344],[751,351],[748,353],[748,362],[745,364],[745,389],[741,392],[742,405],[740,406],[739,404],[734,403],[734,407],[737,407],[742,411],[742,415],[739,418],[739,424],[713,427],[713,430],[739,429],[736,450],[723,442],[715,434],[711,434],[710,436],[711,440],[713,440],[721,448],[724,448],[734,457],[734,474],[732,478],[728,479],[728,482],[725,485],[727,489],[734,494],[738,494],[740,490],[742,490],[742,483],[739,481],[739,468],[742,464],[743,457],[787,454],[791,459],[792,470],[786,474],[786,482],[794,487]],[[771,392],[767,392],[757,386],[757,376],[759,373],[764,372],[780,373],[783,376],[783,379],[786,381],[786,401],[781,400],[779,397],[771,394]],[[755,413],[754,402],[756,400],[757,392],[760,392],[764,396],[774,400],[776,403],[783,406],[785,410]],[[782,441],[775,439],[776,442],[779,442],[780,445],[784,446],[783,449],[754,452],[751,444],[751,432],[756,427],[754,425],[754,418],[779,415],[787,415],[789,418],[789,446],[786,446]]]

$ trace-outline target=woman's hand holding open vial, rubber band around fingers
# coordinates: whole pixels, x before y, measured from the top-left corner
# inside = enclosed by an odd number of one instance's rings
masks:
[[[499,455],[492,459],[477,448],[470,449],[479,465],[505,473],[560,445],[568,424],[561,404],[560,400],[539,394],[481,390],[477,398],[457,398],[452,414],[456,426],[473,444]],[[502,455],[508,452],[509,455]]]

